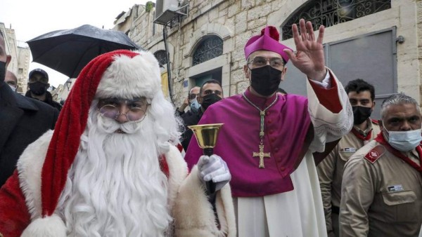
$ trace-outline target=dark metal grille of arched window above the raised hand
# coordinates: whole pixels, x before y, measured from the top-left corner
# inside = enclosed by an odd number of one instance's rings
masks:
[[[319,26],[331,27],[349,20],[362,18],[391,8],[390,0],[314,0],[302,6],[281,27],[282,39],[293,37],[292,25],[301,18],[312,22],[314,30]]]

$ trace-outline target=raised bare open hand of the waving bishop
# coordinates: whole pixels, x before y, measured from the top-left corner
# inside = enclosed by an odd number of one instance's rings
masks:
[[[300,72],[307,75],[309,79],[322,81],[326,76],[326,67],[324,61],[324,48],[322,40],[324,39],[324,26],[319,27],[318,39],[315,40],[314,29],[311,22],[300,19],[300,34],[298,25],[292,25],[293,39],[296,45],[296,54],[291,50],[285,49],[290,61]]]

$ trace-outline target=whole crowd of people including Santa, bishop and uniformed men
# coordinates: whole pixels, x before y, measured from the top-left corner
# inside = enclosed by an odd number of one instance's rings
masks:
[[[91,60],[63,109],[42,69],[19,95],[0,32],[0,236],[422,236],[418,102],[372,119],[375,87],[325,66],[324,26],[292,31],[294,51],[271,26],[245,42],[243,93],[212,79],[177,109],[144,50]],[[307,96],[280,88],[288,62]],[[214,123],[208,156],[188,126]]]

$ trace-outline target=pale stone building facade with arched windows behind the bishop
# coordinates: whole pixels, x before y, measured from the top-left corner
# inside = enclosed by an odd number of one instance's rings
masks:
[[[187,17],[174,20],[170,24],[172,27],[167,26],[167,51],[170,53],[172,77],[170,84],[176,105],[181,104],[189,88],[200,85],[199,82],[210,78],[210,75],[222,81],[224,96],[242,93],[249,85],[243,74],[245,42],[250,36],[259,34],[264,26],[274,25],[281,32],[281,42],[295,48],[293,39],[288,39],[286,34],[291,25],[288,23],[298,16],[312,20],[317,25],[328,23],[324,34],[326,62],[344,84],[356,78],[373,83],[378,107],[383,98],[398,92],[404,92],[418,102],[422,100],[422,1],[185,2],[188,4]],[[142,11],[137,11],[136,17],[132,15],[130,27],[124,31],[140,46],[151,50],[159,60],[163,60],[166,47],[163,34],[158,31],[162,26],[153,23],[155,9],[149,12],[144,11],[145,8],[138,9]],[[323,10],[326,13],[321,13]],[[121,24],[124,25],[124,22]],[[119,25],[115,28],[119,29]],[[211,43],[208,48],[220,47],[219,53],[198,63],[195,56],[198,50],[207,50],[203,47],[208,39],[217,39],[207,43]],[[219,45],[218,39],[222,45]],[[286,86],[288,93],[303,93],[301,83],[305,79],[295,72],[293,65],[288,65],[286,77],[281,87]]]

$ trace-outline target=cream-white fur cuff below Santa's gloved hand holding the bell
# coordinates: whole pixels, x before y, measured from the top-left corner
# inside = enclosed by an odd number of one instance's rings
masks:
[[[173,208],[175,236],[236,236],[234,205],[229,185],[217,191],[217,216],[220,229],[215,223],[214,210],[207,199],[205,187],[198,178],[198,168],[179,189]]]

